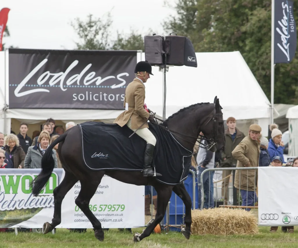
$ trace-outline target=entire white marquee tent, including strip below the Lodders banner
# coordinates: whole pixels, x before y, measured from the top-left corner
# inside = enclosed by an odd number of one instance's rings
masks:
[[[47,118],[81,123],[97,120],[111,123],[122,110],[94,109],[7,109],[3,111],[4,99],[8,99],[8,56],[0,52],[0,131],[7,133],[11,126],[18,128],[12,120],[27,123],[43,123]],[[179,109],[198,102],[213,102],[217,95],[223,107],[224,119],[235,117],[243,132],[252,123],[258,123],[263,134],[268,134],[270,102],[253,76],[240,52],[196,53],[198,67],[175,66],[166,73],[166,117]],[[145,60],[144,53],[138,53],[138,61]],[[147,106],[162,116],[162,72],[153,67],[153,74],[146,85]],[[6,83],[5,83],[6,77]],[[278,113],[275,111],[276,116]],[[17,130],[14,130],[18,132]]]

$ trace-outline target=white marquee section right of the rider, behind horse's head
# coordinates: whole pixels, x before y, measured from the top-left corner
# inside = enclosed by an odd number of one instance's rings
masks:
[[[224,120],[230,116],[243,120],[243,132],[258,123],[267,136],[271,104],[240,52],[196,53],[196,57],[197,68],[175,66],[166,73],[166,117],[194,103],[213,102],[217,95]],[[162,72],[154,68],[153,74],[146,83],[145,101],[162,116]]]

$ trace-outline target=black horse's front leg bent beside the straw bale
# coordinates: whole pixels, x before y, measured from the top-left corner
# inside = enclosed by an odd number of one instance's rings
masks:
[[[184,220],[185,228],[183,227],[181,229],[181,233],[184,235],[185,238],[189,239],[191,234],[190,228],[192,223],[192,219],[191,219],[192,201],[183,183],[175,185],[173,188],[173,191],[175,192],[176,195],[178,195],[182,199],[185,205],[185,220]]]

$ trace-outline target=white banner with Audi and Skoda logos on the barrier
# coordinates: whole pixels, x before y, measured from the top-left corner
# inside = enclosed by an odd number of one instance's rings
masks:
[[[258,219],[260,226],[298,225],[298,168],[259,167]]]

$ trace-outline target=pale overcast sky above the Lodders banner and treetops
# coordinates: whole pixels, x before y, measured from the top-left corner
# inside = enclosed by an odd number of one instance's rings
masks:
[[[176,2],[167,1],[172,5]],[[70,22],[77,17],[86,19],[88,14],[103,17],[111,10],[113,37],[117,30],[143,33],[150,28],[163,35],[162,21],[175,15],[173,9],[164,7],[164,0],[0,0],[0,10],[4,7],[10,8],[10,37],[4,37],[3,43],[39,49],[74,49],[78,37]]]

